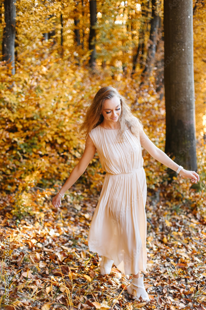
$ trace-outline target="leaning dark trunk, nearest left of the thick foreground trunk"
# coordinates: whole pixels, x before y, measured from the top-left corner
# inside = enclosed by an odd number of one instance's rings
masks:
[[[158,39],[158,29],[161,27],[161,17],[157,15],[156,8],[157,8],[157,0],[152,0],[152,19],[151,19],[151,28],[149,36],[150,45],[148,48],[147,62],[145,64],[145,69],[142,72],[142,76],[145,76],[148,73],[150,73],[154,67],[154,60]]]

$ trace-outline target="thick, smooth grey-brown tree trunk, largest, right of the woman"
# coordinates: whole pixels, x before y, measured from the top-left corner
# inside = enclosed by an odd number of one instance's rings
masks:
[[[192,0],[175,4],[164,0],[165,153],[175,156],[174,161],[184,168],[196,171],[192,18]]]

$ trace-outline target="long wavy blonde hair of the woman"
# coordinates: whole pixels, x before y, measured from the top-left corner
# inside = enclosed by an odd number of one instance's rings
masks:
[[[132,134],[138,137],[139,130],[143,128],[142,122],[132,114],[131,108],[126,104],[124,96],[120,95],[113,86],[106,86],[99,89],[96,93],[90,107],[86,112],[86,116],[79,128],[79,134],[87,138],[89,132],[103,122],[101,114],[104,107],[104,101],[117,96],[120,99],[121,114],[118,122],[120,122],[119,142],[124,141],[124,131],[130,129]]]

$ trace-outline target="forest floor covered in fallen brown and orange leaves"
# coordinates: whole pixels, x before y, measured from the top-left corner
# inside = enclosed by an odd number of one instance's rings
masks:
[[[161,190],[148,190],[144,281],[150,301],[134,301],[125,290],[131,275],[113,266],[110,275],[101,276],[101,258],[88,250],[99,195],[72,190],[76,200],[67,195],[61,210],[55,210],[48,197],[41,217],[12,218],[9,202],[1,210],[2,309],[206,309],[206,217],[187,203],[183,208],[172,206]],[[8,265],[5,246],[10,251]]]

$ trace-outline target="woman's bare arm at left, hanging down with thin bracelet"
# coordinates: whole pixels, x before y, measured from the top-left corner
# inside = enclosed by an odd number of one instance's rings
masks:
[[[65,184],[62,186],[62,188],[59,191],[62,196],[84,173],[84,171],[86,170],[86,167],[89,165],[90,161],[94,157],[95,152],[96,152],[96,147],[92,139],[88,135],[86,139],[86,143],[85,143],[84,153],[82,154],[80,161],[74,167],[74,169],[69,175],[69,178],[66,180]],[[57,207],[61,205],[61,196],[59,194],[53,197],[52,204]]]

